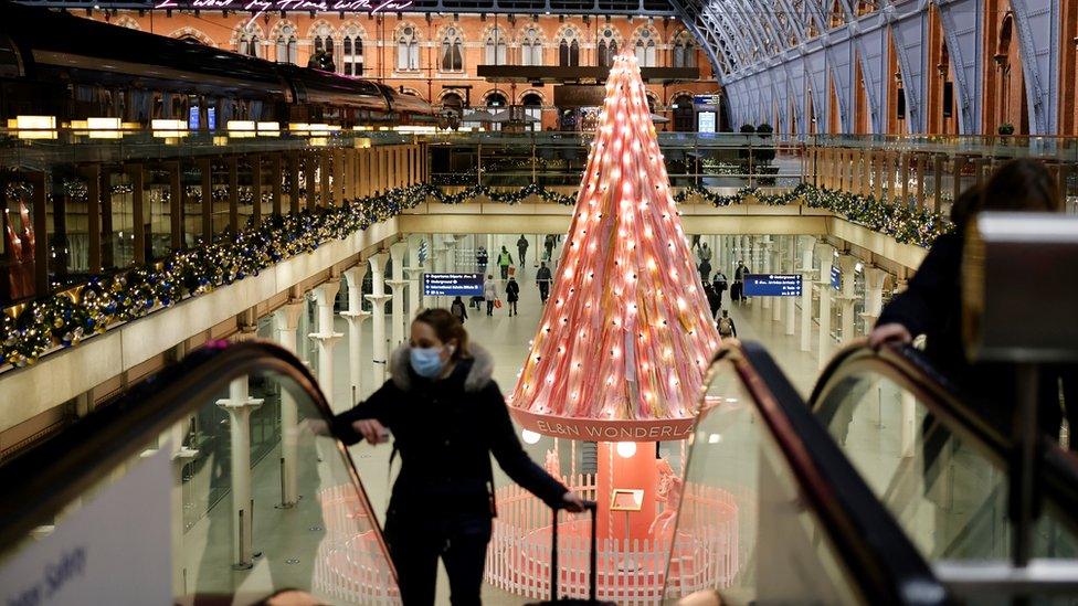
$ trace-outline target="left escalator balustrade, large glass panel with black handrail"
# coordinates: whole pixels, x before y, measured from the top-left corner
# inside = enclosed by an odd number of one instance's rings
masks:
[[[267,343],[210,344],[134,386],[0,467],[3,603],[398,603],[352,460],[314,430],[330,414]]]

